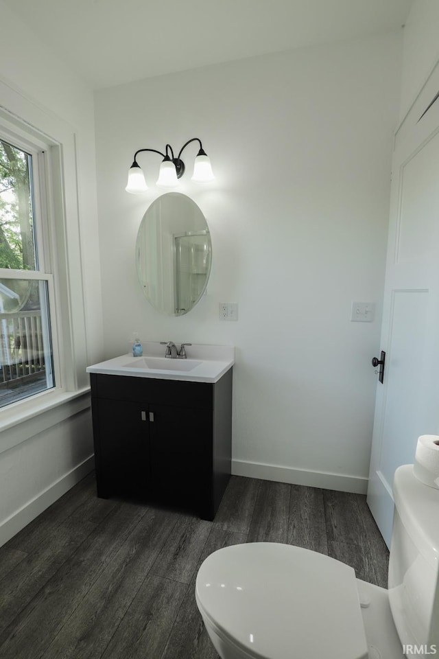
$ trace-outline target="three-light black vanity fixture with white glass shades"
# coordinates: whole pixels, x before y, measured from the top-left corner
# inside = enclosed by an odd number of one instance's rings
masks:
[[[174,150],[170,144],[166,145],[165,153],[157,151],[156,149],[139,149],[134,153],[134,161],[128,172],[128,183],[126,186],[126,192],[132,192],[133,194],[140,194],[147,190],[147,185],[145,183],[145,176],[139,163],[137,163],[137,154],[143,151],[152,151],[163,156],[163,161],[160,165],[160,172],[158,174],[158,179],[156,185],[158,187],[176,187],[178,185],[178,179],[182,177],[185,173],[185,163],[180,158],[183,150],[191,142],[199,142],[200,150],[195,157],[195,163],[193,165],[193,174],[191,181],[196,183],[206,183],[207,181],[213,181],[213,172],[211,167],[211,161],[202,147],[201,140],[198,137],[193,137],[189,139],[182,148],[177,157],[174,157]]]

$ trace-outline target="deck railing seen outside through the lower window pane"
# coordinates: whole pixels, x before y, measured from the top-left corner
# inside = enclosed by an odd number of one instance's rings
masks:
[[[45,370],[41,312],[0,314],[0,382]]]

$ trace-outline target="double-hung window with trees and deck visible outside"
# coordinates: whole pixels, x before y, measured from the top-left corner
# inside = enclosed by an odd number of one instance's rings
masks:
[[[0,134],[0,408],[56,384],[45,153]]]

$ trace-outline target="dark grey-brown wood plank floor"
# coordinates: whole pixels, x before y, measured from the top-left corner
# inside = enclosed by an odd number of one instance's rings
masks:
[[[287,542],[386,585],[366,498],[233,476],[214,522],[95,496],[88,476],[0,548],[1,659],[213,659],[195,604],[201,562]]]

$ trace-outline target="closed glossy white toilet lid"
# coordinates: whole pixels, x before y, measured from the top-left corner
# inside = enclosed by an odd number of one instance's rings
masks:
[[[309,549],[225,547],[196,580],[198,608],[219,636],[263,659],[367,659],[355,571]]]

